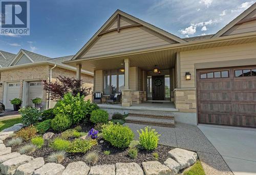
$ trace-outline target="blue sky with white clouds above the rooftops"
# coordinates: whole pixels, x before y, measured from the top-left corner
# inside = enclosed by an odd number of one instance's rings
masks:
[[[30,35],[0,36],[0,50],[76,54],[117,10],[181,38],[214,34],[255,0],[31,0]]]

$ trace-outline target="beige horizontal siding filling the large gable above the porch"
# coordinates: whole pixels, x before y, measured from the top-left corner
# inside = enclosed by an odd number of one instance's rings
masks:
[[[174,43],[144,27],[122,29],[99,37],[82,57],[95,57]]]

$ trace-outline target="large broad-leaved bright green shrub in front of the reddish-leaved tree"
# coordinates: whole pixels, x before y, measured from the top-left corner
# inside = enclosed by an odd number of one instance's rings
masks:
[[[63,99],[58,101],[58,105],[54,107],[54,113],[56,115],[67,115],[73,124],[80,122],[86,118],[89,113],[90,101],[84,101],[84,96],[80,96],[78,93],[73,96],[71,93],[64,95]]]

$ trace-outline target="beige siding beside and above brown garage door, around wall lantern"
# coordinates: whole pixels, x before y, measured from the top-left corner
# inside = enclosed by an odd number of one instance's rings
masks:
[[[256,59],[255,48],[256,42],[181,52],[181,88],[195,88],[196,63],[242,60],[252,58]],[[185,80],[185,72],[191,73],[191,80]]]

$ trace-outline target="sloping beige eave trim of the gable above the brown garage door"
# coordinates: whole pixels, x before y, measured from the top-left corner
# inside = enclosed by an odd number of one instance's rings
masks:
[[[231,29],[234,25],[236,25],[238,22],[240,22],[242,19],[244,19],[247,15],[249,15],[255,9],[256,9],[256,3],[251,5],[248,9],[246,9],[238,17],[236,17],[231,22],[229,22],[224,28],[222,28],[219,32],[217,32],[214,36],[212,36],[212,38],[220,37],[221,35],[223,35],[225,32],[227,32],[229,29]]]

